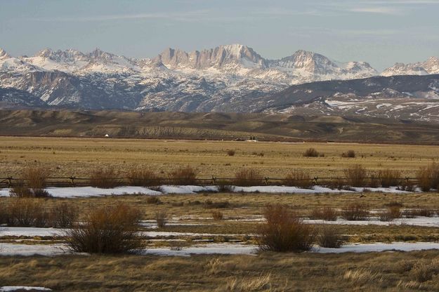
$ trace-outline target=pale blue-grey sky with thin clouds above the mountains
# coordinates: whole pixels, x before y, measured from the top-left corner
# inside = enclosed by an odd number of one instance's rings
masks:
[[[244,44],[263,58],[299,49],[340,62],[439,57],[439,0],[0,0],[0,48],[43,48],[153,58]]]

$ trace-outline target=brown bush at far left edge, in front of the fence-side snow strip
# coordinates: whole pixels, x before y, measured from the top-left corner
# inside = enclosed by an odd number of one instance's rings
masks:
[[[13,199],[5,207],[6,224],[20,227],[46,227],[49,214],[42,201],[30,198]]]

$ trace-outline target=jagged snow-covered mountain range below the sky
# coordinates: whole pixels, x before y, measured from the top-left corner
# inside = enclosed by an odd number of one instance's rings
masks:
[[[240,44],[190,53],[166,48],[155,58],[127,58],[98,48],[13,57],[0,49],[0,107],[346,112],[435,121],[434,74],[439,74],[435,57],[397,63],[379,74],[367,62],[336,62],[308,51],[269,60]]]

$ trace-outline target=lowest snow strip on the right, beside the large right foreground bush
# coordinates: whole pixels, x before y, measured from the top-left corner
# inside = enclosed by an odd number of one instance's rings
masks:
[[[341,248],[314,247],[311,251],[316,253],[370,253],[379,251],[424,251],[439,249],[439,242],[392,242],[383,244],[346,244]]]

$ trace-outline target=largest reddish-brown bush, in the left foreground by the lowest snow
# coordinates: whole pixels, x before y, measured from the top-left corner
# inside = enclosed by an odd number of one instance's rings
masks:
[[[138,235],[140,211],[126,204],[97,208],[66,230],[66,245],[80,253],[124,253],[143,248]]]

